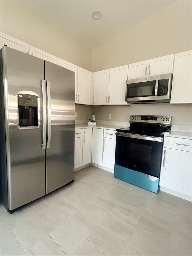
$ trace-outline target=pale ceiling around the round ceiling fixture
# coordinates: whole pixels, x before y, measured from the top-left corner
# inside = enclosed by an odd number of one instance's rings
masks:
[[[94,50],[173,0],[15,0],[84,47]],[[94,20],[91,14],[101,11]]]

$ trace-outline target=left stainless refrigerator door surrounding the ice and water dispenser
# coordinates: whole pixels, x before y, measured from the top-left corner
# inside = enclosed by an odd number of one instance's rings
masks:
[[[2,59],[5,148],[1,150],[6,150],[7,160],[7,170],[2,171],[7,171],[8,210],[12,211],[45,195],[41,86],[44,61],[8,47],[3,47]],[[37,100],[37,114],[28,111],[31,109],[28,106],[21,111],[23,120],[27,122],[31,115],[38,116],[38,122],[32,123],[35,127],[19,127],[18,112],[22,106],[18,105],[24,104],[19,101],[23,95],[34,95],[34,101]],[[32,101],[29,96],[26,100]]]

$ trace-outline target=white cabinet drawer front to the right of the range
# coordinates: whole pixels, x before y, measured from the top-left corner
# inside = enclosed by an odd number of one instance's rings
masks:
[[[192,140],[181,139],[176,137],[165,137],[164,147],[192,152]]]

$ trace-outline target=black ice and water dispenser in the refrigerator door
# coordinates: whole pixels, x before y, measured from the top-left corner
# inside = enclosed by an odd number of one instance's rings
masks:
[[[38,96],[18,94],[19,127],[38,127]]]

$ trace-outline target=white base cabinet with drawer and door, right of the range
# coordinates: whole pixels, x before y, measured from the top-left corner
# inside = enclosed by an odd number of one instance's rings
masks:
[[[192,201],[192,140],[165,137],[160,190]]]

